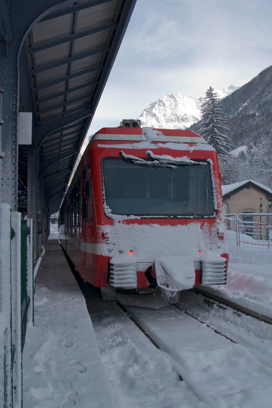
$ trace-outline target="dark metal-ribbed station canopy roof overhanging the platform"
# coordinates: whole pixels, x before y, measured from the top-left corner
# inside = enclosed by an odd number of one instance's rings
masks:
[[[55,9],[28,34],[20,81],[29,88],[32,148],[50,214],[59,209],[71,170],[113,65],[136,0],[86,0]],[[20,84],[20,111],[29,110]],[[27,209],[30,148],[19,146],[18,211]]]

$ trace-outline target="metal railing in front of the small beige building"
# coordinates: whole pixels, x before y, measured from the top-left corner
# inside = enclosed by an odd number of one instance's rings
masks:
[[[270,249],[272,247],[272,214],[225,214],[229,246]]]

